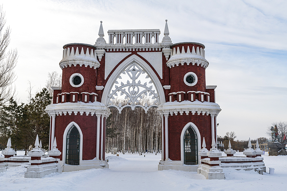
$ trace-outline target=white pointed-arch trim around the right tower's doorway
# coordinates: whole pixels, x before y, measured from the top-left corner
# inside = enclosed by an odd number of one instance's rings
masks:
[[[191,126],[194,129],[194,131],[195,131],[195,133],[197,135],[197,153],[201,150],[201,136],[200,136],[199,130],[198,130],[198,128],[196,127],[196,125],[194,123],[189,122],[183,127],[183,129],[181,131],[181,136],[180,136],[180,143],[181,143],[180,144],[180,150],[181,150],[181,162],[182,162],[182,164],[184,164],[184,158],[183,158],[183,155],[184,155],[184,153],[183,153],[184,152],[184,149],[183,149],[184,148],[184,142],[183,142],[183,138],[184,138],[185,131],[187,130],[187,128],[189,126]],[[197,160],[198,160],[198,164],[199,164],[200,156],[198,154],[197,154]]]

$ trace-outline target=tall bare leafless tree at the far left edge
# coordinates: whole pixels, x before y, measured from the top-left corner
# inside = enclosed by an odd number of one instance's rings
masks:
[[[18,56],[17,49],[7,50],[10,43],[10,27],[5,27],[3,6],[0,6],[0,104],[3,105],[14,95],[12,84],[16,79],[14,68]]]

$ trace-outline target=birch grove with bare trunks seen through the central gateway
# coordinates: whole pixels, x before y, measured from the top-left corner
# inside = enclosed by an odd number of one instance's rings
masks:
[[[120,114],[116,108],[110,108],[111,114],[106,121],[106,153],[114,147],[123,154],[161,152],[162,119],[156,109],[150,108],[145,113],[140,107],[134,111],[126,107]]]

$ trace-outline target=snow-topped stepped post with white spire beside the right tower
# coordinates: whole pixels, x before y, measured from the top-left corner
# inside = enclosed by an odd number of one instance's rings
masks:
[[[224,179],[219,160],[221,152],[216,148],[214,136],[212,136],[212,148],[207,155],[208,158],[201,159],[200,174],[204,175],[206,179]]]

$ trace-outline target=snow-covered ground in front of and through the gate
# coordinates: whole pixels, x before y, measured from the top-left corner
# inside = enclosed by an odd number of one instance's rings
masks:
[[[21,152],[21,151],[20,151]],[[22,153],[18,153],[21,155]],[[267,153],[265,153],[267,154]],[[146,157],[144,157],[146,155]],[[236,153],[242,155],[242,153]],[[266,156],[266,170],[275,174],[224,169],[225,180],[205,180],[196,172],[158,171],[161,154],[145,153],[119,157],[106,154],[109,169],[53,173],[44,178],[24,178],[26,166],[0,173],[0,190],[286,190],[287,156]]]

